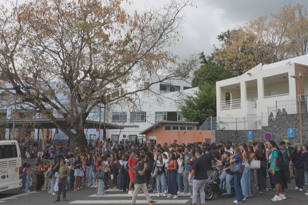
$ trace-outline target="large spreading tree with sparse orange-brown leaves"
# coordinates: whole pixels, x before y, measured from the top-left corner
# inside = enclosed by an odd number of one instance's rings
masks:
[[[84,144],[93,108],[133,98],[167,79],[184,79],[194,67],[170,51],[189,0],[134,12],[123,0],[33,0],[2,5],[0,89],[43,113]],[[162,75],[163,74],[163,75]],[[158,77],[146,87],[146,76]],[[130,100],[133,101],[133,100]],[[65,124],[57,120],[65,119]]]

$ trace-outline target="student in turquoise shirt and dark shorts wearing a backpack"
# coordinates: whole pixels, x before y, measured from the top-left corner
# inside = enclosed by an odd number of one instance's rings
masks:
[[[274,140],[271,140],[268,144],[268,148],[272,150],[272,157],[271,157],[271,168],[269,168],[269,172],[272,173],[272,182],[275,183],[276,188],[276,195],[272,198],[272,201],[281,201],[286,199],[283,194],[282,187],[281,187],[281,174],[280,169],[283,166],[282,158],[280,153],[277,149],[277,144]]]

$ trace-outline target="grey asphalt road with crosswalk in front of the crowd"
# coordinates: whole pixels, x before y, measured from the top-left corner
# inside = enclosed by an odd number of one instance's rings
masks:
[[[274,192],[267,193],[259,193],[255,197],[248,198],[244,202],[244,204],[279,204],[279,205],[303,205],[307,204],[308,196],[304,195],[304,192],[298,192],[294,189],[294,180],[291,184],[289,184],[289,189],[285,192],[287,197],[286,200],[272,202],[271,198],[274,196]],[[307,190],[308,187],[304,188],[304,191]],[[60,201],[56,204],[109,204],[109,205],[117,205],[117,204],[131,204],[131,196],[127,193],[123,193],[119,190],[107,190],[106,195],[102,197],[98,197],[94,195],[94,188],[84,188],[79,192],[68,191],[67,199],[68,201]],[[139,194],[137,204],[148,204],[145,197],[142,194]],[[157,197],[156,193],[151,193],[151,197],[153,200],[157,200],[157,204],[185,204],[190,205],[191,199],[187,196],[180,196],[178,199],[170,199],[166,197]],[[11,190],[8,192],[0,193],[0,204],[6,205],[23,205],[23,204],[55,204],[53,201],[55,200],[55,196],[51,196],[47,194],[46,191],[42,192],[29,192],[22,193],[18,190]],[[61,198],[62,199],[62,198]],[[206,204],[210,205],[221,205],[221,204],[233,204],[235,200],[234,197],[230,199],[218,198],[214,197],[210,201],[206,201]],[[198,202],[200,204],[200,201]]]

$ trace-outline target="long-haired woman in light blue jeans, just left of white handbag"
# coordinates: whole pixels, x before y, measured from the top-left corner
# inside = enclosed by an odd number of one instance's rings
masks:
[[[251,191],[251,169],[249,166],[248,160],[250,160],[250,154],[248,151],[248,146],[245,143],[242,143],[240,145],[240,150],[242,152],[243,156],[243,164],[245,165],[245,169],[241,178],[241,188],[242,192],[245,198],[248,198],[251,196],[252,191]]]

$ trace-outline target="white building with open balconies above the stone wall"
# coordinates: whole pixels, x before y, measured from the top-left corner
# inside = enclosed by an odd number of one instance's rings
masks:
[[[307,95],[308,54],[269,65],[259,64],[238,77],[216,82],[217,118],[220,118],[217,121],[253,118],[256,121],[253,128],[260,129],[271,113],[275,116],[283,109],[293,112],[287,104],[277,106],[277,102],[296,100],[297,96],[305,101]]]

